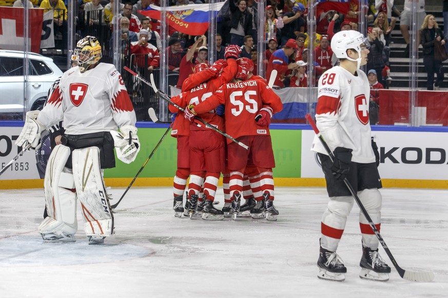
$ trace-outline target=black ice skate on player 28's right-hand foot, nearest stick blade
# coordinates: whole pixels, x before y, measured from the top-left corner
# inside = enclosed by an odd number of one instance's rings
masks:
[[[387,266],[384,260],[380,257],[377,250],[372,250],[368,247],[362,248],[361,272],[359,277],[366,280],[374,280],[385,282],[389,280],[389,274],[391,273],[391,267]]]

